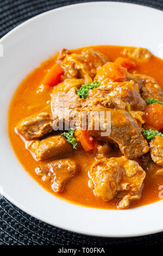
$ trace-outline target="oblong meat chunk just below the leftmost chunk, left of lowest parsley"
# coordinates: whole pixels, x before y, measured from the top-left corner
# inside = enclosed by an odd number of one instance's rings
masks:
[[[38,161],[52,159],[62,156],[72,150],[72,145],[65,137],[49,136],[45,139],[34,139],[28,142],[27,148],[34,153]]]

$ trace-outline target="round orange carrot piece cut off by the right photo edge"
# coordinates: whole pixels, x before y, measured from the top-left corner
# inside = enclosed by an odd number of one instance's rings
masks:
[[[163,105],[152,103],[144,109],[143,118],[145,125],[152,126],[156,130],[163,129]]]

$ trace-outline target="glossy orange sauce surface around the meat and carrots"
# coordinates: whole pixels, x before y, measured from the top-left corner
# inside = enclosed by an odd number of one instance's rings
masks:
[[[122,52],[124,49],[124,47],[121,46],[93,46],[91,48],[106,54],[111,61],[114,61],[117,57],[123,56]],[[72,52],[80,53],[81,51],[82,48],[73,50]],[[24,169],[26,169],[26,171],[43,188],[53,193],[55,196],[84,206],[102,209],[117,209],[116,199],[113,199],[110,202],[103,202],[95,197],[92,190],[87,185],[89,180],[87,172],[89,171],[90,164],[95,160],[95,155],[86,153],[82,149],[80,151],[74,150],[70,154],[67,154],[66,157],[75,160],[79,164],[80,172],[66,182],[65,190],[63,192],[55,193],[49,182],[42,181],[39,176],[35,174],[35,167],[38,166],[38,162],[34,160],[30,152],[25,148],[25,144],[20,136],[15,133],[15,126],[22,118],[44,110],[46,112],[50,111],[49,101],[51,100],[53,88],[49,87],[46,91],[41,92],[39,85],[54,62],[55,57],[42,63],[39,68],[29,74],[17,88],[12,98],[8,114],[8,131],[12,148]],[[137,73],[154,77],[163,88],[163,60],[152,56],[148,62],[138,63],[135,70]],[[121,153],[116,149],[110,154],[110,157],[112,156],[121,156]],[[156,176],[153,172],[149,172],[149,170],[146,170],[146,173],[147,175],[142,190],[142,197],[139,200],[131,202],[130,208],[159,200],[159,186],[163,185],[163,176]]]

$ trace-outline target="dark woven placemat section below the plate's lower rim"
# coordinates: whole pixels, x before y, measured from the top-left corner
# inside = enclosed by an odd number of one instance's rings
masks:
[[[0,202],[0,245],[162,245],[163,232],[131,238],[104,238],[72,233],[52,227],[16,208],[7,199]]]

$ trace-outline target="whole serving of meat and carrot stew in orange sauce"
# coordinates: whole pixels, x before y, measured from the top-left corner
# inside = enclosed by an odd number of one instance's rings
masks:
[[[85,206],[127,209],[159,200],[162,67],[147,49],[121,46],[62,49],[42,63],[9,109],[10,141],[27,172],[55,196]],[[81,116],[74,117],[88,112],[97,115],[81,129]]]

